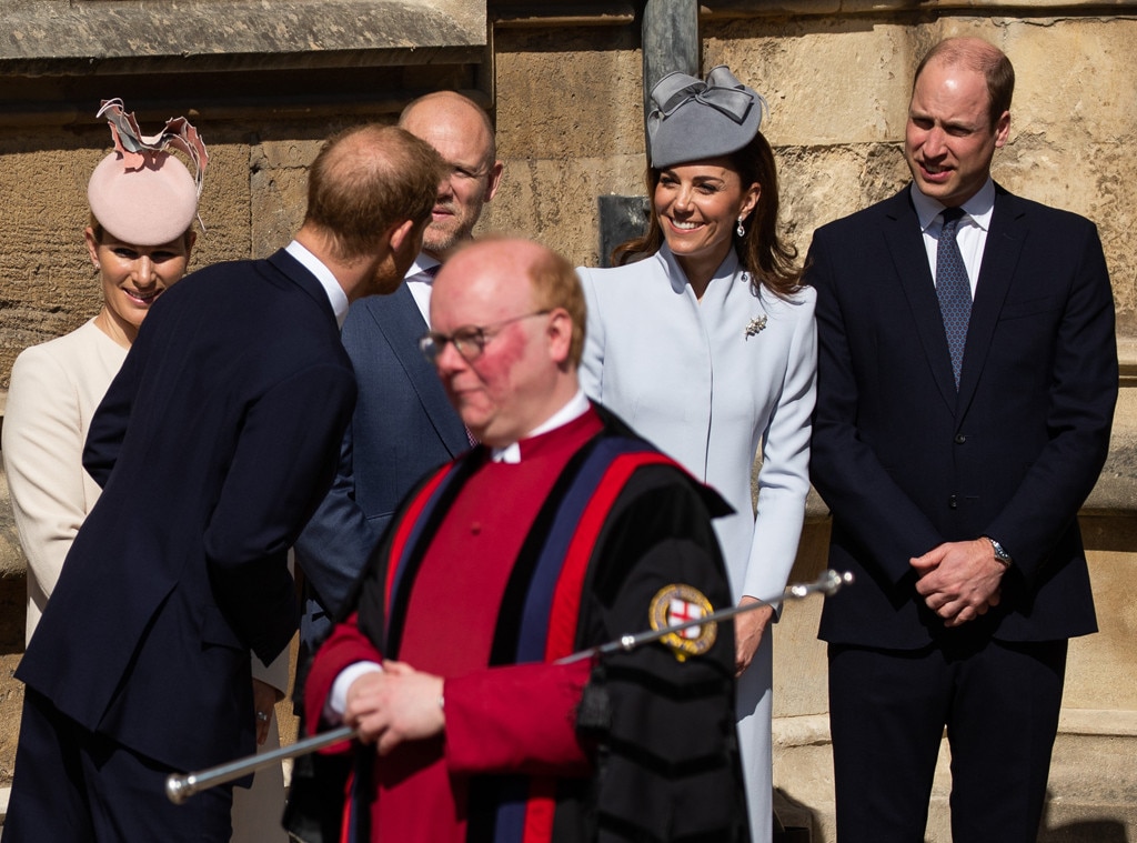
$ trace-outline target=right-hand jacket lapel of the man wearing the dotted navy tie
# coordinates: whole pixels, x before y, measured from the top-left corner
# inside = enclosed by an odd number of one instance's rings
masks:
[[[976,300],[971,306],[968,325],[968,345],[963,352],[963,371],[960,375],[960,416],[976,394],[979,375],[987,363],[995,327],[1003,309],[1003,301],[1011,289],[1022,245],[1026,242],[1027,223],[1015,197],[995,185],[995,210],[984,246],[984,259],[976,282]]]

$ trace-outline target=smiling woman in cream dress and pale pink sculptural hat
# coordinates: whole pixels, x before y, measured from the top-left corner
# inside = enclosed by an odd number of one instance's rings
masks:
[[[70,333],[32,346],[16,358],[5,410],[3,462],[27,559],[28,640],[72,542],[99,497],[99,486],[83,470],[91,418],[150,308],[185,274],[208,165],[205,144],[184,117],[167,121],[158,134],[143,135],[122,100],[105,100],[97,116],[110,124],[115,147],[88,183],[91,218],[83,231],[102,286],[102,307]],[[193,174],[173,151],[185,156]],[[288,685],[287,661],[285,654],[283,664],[263,668],[254,660],[263,744],[277,742],[272,712]],[[258,776],[252,792],[234,794],[234,841],[287,840],[280,828],[283,777],[275,774],[275,782],[272,774]]]

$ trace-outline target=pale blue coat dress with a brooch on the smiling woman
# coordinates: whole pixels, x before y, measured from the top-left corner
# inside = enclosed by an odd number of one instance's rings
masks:
[[[578,270],[588,300],[584,391],[733,506],[715,530],[736,602],[778,595],[810,490],[816,296],[750,290],[735,250],[702,301],[666,245],[644,261]],[[752,466],[761,447],[757,515]],[[716,606],[717,609],[719,606]],[[772,834],[771,635],[738,686],[739,741],[755,841]]]

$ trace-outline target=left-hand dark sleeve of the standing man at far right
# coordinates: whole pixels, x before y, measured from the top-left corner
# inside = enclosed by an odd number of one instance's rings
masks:
[[[944,542],[919,506],[889,477],[857,431],[857,362],[849,348],[839,245],[821,230],[814,237],[805,281],[818,290],[818,404],[813,418],[810,476],[841,528],[862,546],[862,560],[898,584],[908,560]]]

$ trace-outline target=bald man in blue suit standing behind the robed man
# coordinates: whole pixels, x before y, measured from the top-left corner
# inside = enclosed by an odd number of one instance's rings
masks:
[[[332,489],[297,542],[306,602],[306,651],[329,631],[396,505],[415,481],[470,447],[466,429],[418,350],[430,325],[431,283],[471,232],[501,180],[493,126],[475,102],[439,91],[410,102],[399,125],[442,156],[422,253],[395,295],[351,307],[342,339],[359,385]],[[304,660],[301,659],[301,662]]]

